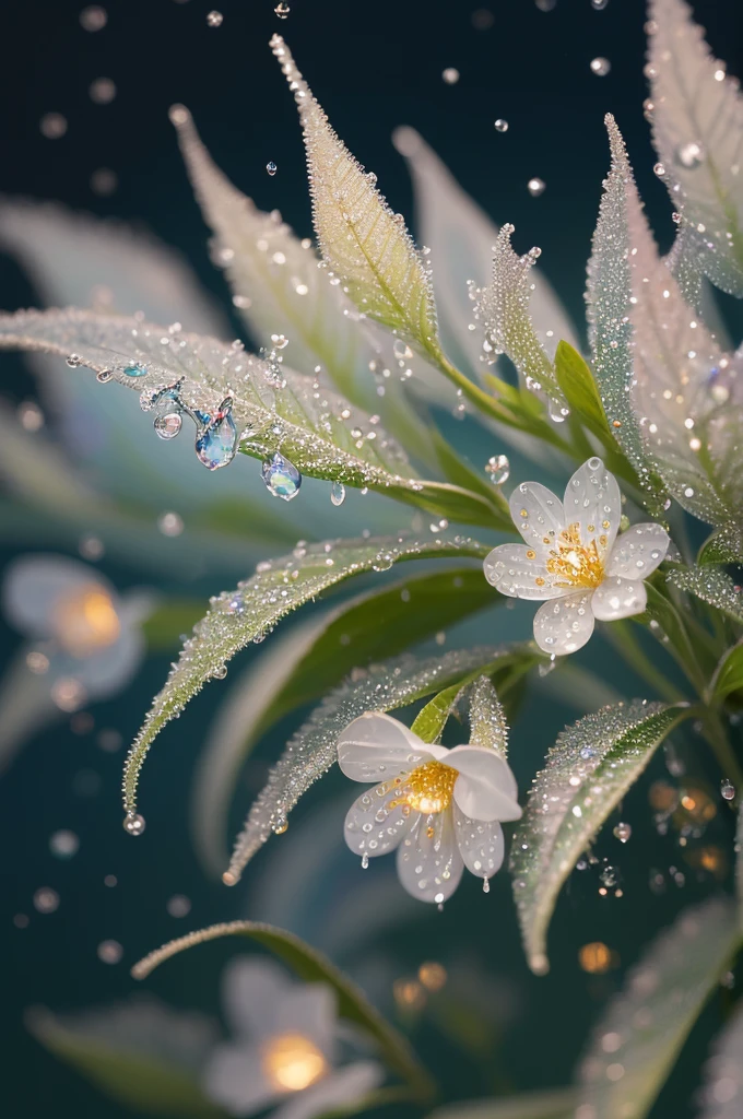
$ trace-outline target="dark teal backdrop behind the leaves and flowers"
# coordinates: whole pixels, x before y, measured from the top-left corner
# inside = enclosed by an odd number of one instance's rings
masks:
[[[479,4],[470,0],[290,2],[289,19],[279,21],[274,0],[224,0],[224,25],[213,30],[206,26],[208,4],[201,0],[185,4],[109,0],[107,27],[91,35],[78,23],[81,2],[6,0],[1,12],[0,189],[143,223],[182,250],[205,286],[227,301],[223,279],[208,262],[206,231],[167,110],[173,102],[186,103],[213,156],[237,185],[258,206],[280,208],[299,233],[309,234],[295,109],[267,48],[271,34],[279,30],[335,128],[377,172],[395,209],[411,214],[410,184],[389,142],[393,128],[407,123],[422,132],[499,224],[516,225],[519,251],[542,246],[540,266],[579,321],[585,260],[608,168],[602,124],[606,111],[614,113],[623,130],[657,235],[664,246],[670,243],[670,206],[652,173],[653,154],[641,109],[647,90],[645,17],[639,0],[610,0],[599,12],[589,0],[558,0],[552,12],[539,11],[532,0],[490,0],[482,4],[495,16],[489,30],[473,28],[471,12]],[[728,69],[741,73],[740,3],[706,0],[696,3],[695,10]],[[591,74],[589,63],[596,55],[611,60],[608,77]],[[461,72],[455,86],[441,79],[448,66]],[[109,106],[94,105],[87,96],[91,81],[102,75],[117,86]],[[69,131],[62,140],[49,141],[39,133],[39,117],[49,111],[68,117]],[[508,120],[507,134],[493,130],[498,116]],[[269,160],[279,167],[274,178],[265,172]],[[119,190],[107,199],[94,196],[88,185],[91,172],[102,166],[115,169],[120,177]],[[533,176],[547,184],[536,199],[526,190]],[[0,305],[13,309],[34,299],[17,266],[0,258]],[[20,358],[3,356],[0,378],[11,399],[27,398],[34,392]],[[3,540],[2,560],[15,554]],[[103,568],[120,587],[140,582],[135,572],[123,566],[104,563]],[[164,581],[162,589],[184,592],[182,586]],[[206,579],[188,592],[206,600],[220,589]],[[528,611],[490,614],[480,638],[500,640],[525,633],[528,617]],[[3,639],[9,657],[18,639],[8,630]],[[618,669],[599,642],[582,658],[594,669],[613,674],[612,681],[626,694],[648,695],[642,681]],[[168,659],[148,661],[124,696],[98,705],[96,730],[116,727],[129,740],[164,677]],[[140,841],[132,841],[121,829],[122,754],[100,751],[94,735],[75,735],[67,725],[40,735],[0,782],[0,958],[4,972],[0,1052],[6,1068],[0,1099],[8,1106],[8,1116],[40,1119],[53,1110],[65,1119],[131,1115],[40,1051],[21,1027],[23,1009],[35,1004],[73,1009],[121,997],[133,987],[126,966],[161,941],[213,921],[262,915],[251,909],[250,899],[253,883],[269,866],[269,852],[258,856],[245,884],[228,892],[205,880],[189,843],[191,767],[224,695],[218,687],[207,690],[153,752],[144,773],[148,831]],[[573,709],[556,703],[548,708],[540,703],[537,708],[527,698],[512,746],[521,788],[528,786],[557,731],[573,717]],[[276,754],[294,723],[280,727],[262,744],[261,759]],[[706,762],[689,742],[689,765],[703,775]],[[97,796],[74,792],[73,779],[79,770],[100,775]],[[664,773],[659,756],[651,777]],[[707,775],[714,787],[714,769]],[[260,784],[258,762],[248,777],[250,789],[245,782],[238,791],[235,825],[250,802],[250,792]],[[651,826],[648,783],[649,779],[643,780],[624,807],[624,818],[634,829],[631,841],[618,850],[608,831],[599,845],[600,854],[621,866],[624,897],[599,899],[595,876],[573,876],[554,922],[554,967],[546,979],[527,972],[506,874],[495,880],[488,899],[469,881],[442,915],[421,905],[413,920],[401,915],[393,922],[373,948],[358,951],[348,943],[342,958],[337,957],[337,962],[348,965],[359,977],[365,969],[373,974],[374,967],[367,966],[379,959],[392,967],[395,977],[411,974],[431,958],[450,968],[464,961],[476,975],[487,977],[482,981],[488,991],[486,1018],[502,1034],[498,1052],[491,1051],[485,1061],[462,1056],[431,1015],[417,1028],[421,1051],[440,1072],[446,1098],[567,1082],[587,1026],[621,979],[621,972],[585,976],[577,966],[580,944],[604,940],[617,949],[623,965],[629,963],[683,904],[709,892],[709,882],[697,883],[692,873],[683,890],[669,886],[659,896],[649,891],[650,868],[667,872],[679,854],[673,838],[664,839]],[[292,928],[318,944],[327,939],[327,922],[342,911],[346,891],[351,883],[355,888],[359,885],[358,866],[341,847],[340,837],[344,805],[354,794],[348,782],[338,775],[329,778],[298,809],[290,829],[301,827],[302,818],[318,811],[326,800],[328,814],[338,816],[332,873],[318,873],[311,902],[292,915]],[[49,835],[62,827],[72,828],[82,840],[79,854],[69,863],[53,859],[48,852]],[[708,839],[731,849],[731,836],[730,814],[721,812]],[[377,873],[392,873],[392,868],[374,867],[369,875]],[[117,876],[116,888],[103,885],[106,874]],[[30,899],[46,884],[58,890],[62,905],[57,913],[40,916]],[[166,900],[176,893],[194,902],[182,921],[164,909]],[[347,904],[354,903],[352,897]],[[12,924],[19,911],[31,914],[26,930]],[[124,946],[124,960],[117,967],[105,967],[96,957],[97,943],[106,938]],[[173,1005],[216,1009],[216,980],[227,947],[210,946],[186,956],[149,986]],[[388,984],[375,991],[383,1002],[384,991]],[[681,1062],[674,1085],[659,1101],[655,1119],[692,1113],[689,1100],[708,1037],[721,1021],[722,1002],[713,1002],[695,1031],[688,1060]],[[392,1012],[388,997],[385,1009]]]

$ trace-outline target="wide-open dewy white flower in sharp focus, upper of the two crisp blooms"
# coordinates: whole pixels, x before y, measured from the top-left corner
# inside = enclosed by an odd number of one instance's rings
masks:
[[[642,613],[643,580],[662,562],[670,540],[655,521],[632,525],[617,538],[621,495],[601,459],[575,471],[564,502],[539,482],[524,482],[511,493],[510,511],[526,544],[493,548],[485,575],[501,594],[549,600],[534,618],[540,649],[575,652],[593,633],[595,619]]]

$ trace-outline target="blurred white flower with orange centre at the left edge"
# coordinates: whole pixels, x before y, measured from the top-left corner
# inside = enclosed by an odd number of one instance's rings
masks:
[[[100,572],[65,556],[21,556],[2,586],[8,621],[32,643],[29,669],[57,707],[76,711],[125,687],[144,656],[149,595],[122,600]]]

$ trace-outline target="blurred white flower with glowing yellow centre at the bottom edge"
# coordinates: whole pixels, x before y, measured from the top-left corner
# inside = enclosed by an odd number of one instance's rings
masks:
[[[356,1103],[384,1078],[375,1061],[336,1066],[335,993],[292,981],[272,960],[233,960],[224,1005],[236,1037],[211,1052],[204,1091],[229,1115],[279,1104],[272,1119],[311,1119]]]

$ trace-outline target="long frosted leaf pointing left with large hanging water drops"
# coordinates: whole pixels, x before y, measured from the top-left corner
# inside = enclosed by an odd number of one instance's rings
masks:
[[[239,449],[247,454],[281,451],[302,473],[378,489],[451,519],[467,520],[468,509],[482,524],[493,525],[498,517],[479,495],[411,477],[404,451],[373,419],[318,380],[263,361],[242,345],[138,318],[67,310],[0,316],[2,347],[74,355],[81,365],[109,370],[142,393],[182,378],[181,399],[207,414],[232,394]],[[147,372],[132,377],[124,370],[137,363]]]

